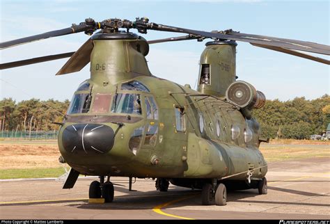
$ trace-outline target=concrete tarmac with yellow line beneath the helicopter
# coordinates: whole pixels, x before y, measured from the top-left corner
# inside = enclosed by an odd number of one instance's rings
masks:
[[[80,178],[73,189],[54,179],[0,182],[1,219],[330,219],[328,158],[269,163],[268,194],[257,189],[228,192],[226,206],[201,205],[201,191],[170,184],[158,192],[152,179],[111,177],[112,203],[88,203],[89,184]]]

